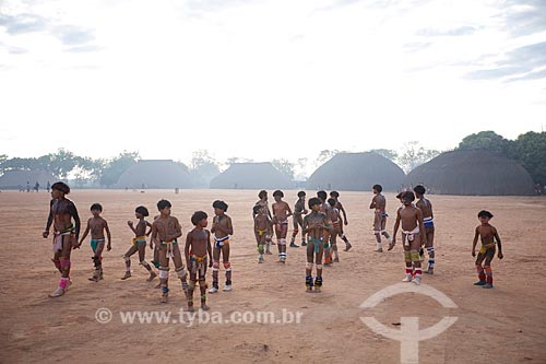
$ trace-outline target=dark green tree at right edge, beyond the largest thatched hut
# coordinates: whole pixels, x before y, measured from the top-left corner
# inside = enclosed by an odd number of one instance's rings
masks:
[[[546,185],[546,131],[519,136],[510,145],[509,156],[521,163],[535,184]]]

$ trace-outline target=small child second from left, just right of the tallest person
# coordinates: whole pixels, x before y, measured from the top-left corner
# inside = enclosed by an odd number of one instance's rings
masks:
[[[91,248],[93,249],[93,265],[95,267],[95,271],[93,272],[93,277],[90,278],[90,281],[98,282],[103,279],[103,250],[104,250],[104,232],[106,231],[106,236],[108,237],[108,245],[106,246],[106,250],[111,250],[111,235],[110,230],[108,228],[108,223],[100,216],[103,212],[103,207],[100,203],[93,203],[91,206],[91,213],[93,218],[87,220],[87,227],[83,233],[82,238],[80,239],[80,245],[82,245],[83,240],[87,236],[91,231]]]

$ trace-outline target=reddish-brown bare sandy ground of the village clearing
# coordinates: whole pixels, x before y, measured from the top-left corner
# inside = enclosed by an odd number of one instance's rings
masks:
[[[0,192],[0,263],[5,268],[0,292],[0,362],[400,363],[400,342],[375,333],[360,317],[373,316],[397,330],[401,317],[419,317],[419,327],[426,328],[444,316],[455,316],[456,322],[447,331],[419,343],[420,363],[546,363],[546,198],[430,196],[437,226],[437,269],[435,275],[424,277],[424,283],[444,293],[458,307],[444,308],[426,295],[404,293],[365,310],[359,305],[366,298],[400,283],[404,275],[400,243],[393,251],[373,253],[372,212],[368,209],[371,192],[341,193],[348,211],[346,235],[354,249],[341,251],[341,262],[325,269],[320,294],[305,293],[302,248],[288,248],[285,266],[277,263],[275,256],[268,256],[263,265],[257,263],[250,210],[257,192],[73,191],[69,197],[75,201],[83,222],[90,216],[91,203],[104,206],[103,216],[109,222],[114,247],[104,256],[105,280],[98,283],[87,280],[92,272],[88,239],[74,250],[73,284],[60,298],[47,296],[55,290],[59,274],[49,260],[51,242],[40,236],[49,195]],[[290,204],[296,192],[285,191]],[[392,231],[397,201],[394,193],[385,196],[388,230]],[[121,256],[131,238],[127,221],[134,220],[138,204],[147,206],[155,214],[161,198],[173,202],[173,214],[179,218],[185,234],[192,227],[193,211],[212,214],[215,199],[229,203],[228,214],[235,227],[234,291],[209,295],[210,313],[216,322],[219,315],[237,319],[234,313],[273,312],[280,318],[283,310],[300,313],[300,322],[206,324],[203,316],[202,322],[188,327],[187,320],[174,322],[179,321],[179,309],[185,307],[177,280],[170,280],[173,291],[166,305],[158,303],[159,292],[154,289],[157,281],[145,281],[146,271],[138,266],[136,256],[132,260],[133,277],[121,281]],[[491,223],[499,230],[505,247],[505,259],[492,263],[494,290],[472,284],[476,273],[471,247],[480,209],[496,215]],[[211,272],[207,274],[211,281]],[[223,274],[222,270],[221,278]],[[99,308],[112,313],[111,321],[96,320]],[[168,324],[123,324],[120,313],[133,310],[170,313],[171,317]]]

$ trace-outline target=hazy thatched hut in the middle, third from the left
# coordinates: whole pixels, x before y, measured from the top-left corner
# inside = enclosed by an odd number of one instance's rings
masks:
[[[235,163],[211,180],[211,188],[275,189],[295,184],[271,163]]]

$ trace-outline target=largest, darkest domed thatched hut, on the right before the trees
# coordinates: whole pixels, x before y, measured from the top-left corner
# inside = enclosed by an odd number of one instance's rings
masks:
[[[484,150],[446,152],[416,167],[404,185],[439,195],[533,195],[533,180],[517,162]]]

